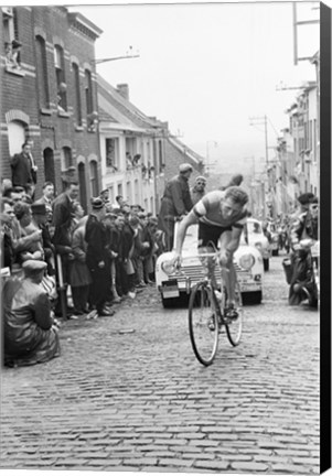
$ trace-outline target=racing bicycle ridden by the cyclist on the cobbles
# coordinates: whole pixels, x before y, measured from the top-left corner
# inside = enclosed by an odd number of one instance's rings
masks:
[[[189,331],[192,348],[197,360],[210,366],[217,353],[219,334],[226,329],[227,338],[232,346],[236,347],[243,331],[243,303],[239,284],[235,284],[235,310],[238,317],[225,316],[227,303],[227,290],[225,288],[223,272],[228,269],[221,267],[217,252],[200,253],[204,269],[204,278],[192,289],[189,301]],[[215,264],[221,271],[219,289],[213,273]]]

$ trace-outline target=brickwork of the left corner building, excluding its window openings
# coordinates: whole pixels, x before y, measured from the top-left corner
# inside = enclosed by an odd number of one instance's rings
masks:
[[[77,166],[77,156],[83,158],[86,167],[86,185],[89,195],[89,160],[99,156],[97,132],[87,131],[85,78],[84,71],[89,68],[93,83],[94,109],[97,109],[97,86],[95,67],[95,39],[81,26],[73,25],[67,10],[63,7],[18,7],[18,39],[23,43],[21,53],[22,72],[24,76],[10,74],[2,68],[1,94],[1,176],[11,177],[9,139],[6,113],[12,109],[26,115],[26,136],[33,140],[33,155],[39,166],[36,197],[41,195],[45,180],[44,149],[53,150],[55,165],[55,185],[62,192],[61,149],[72,150],[73,165]],[[2,13],[1,13],[2,21]],[[50,89],[50,109],[41,112],[38,94],[35,35],[40,34],[46,44],[47,83]],[[54,45],[58,43],[64,50],[65,83],[67,85],[67,117],[57,112],[57,84],[54,65]],[[2,63],[4,63],[4,44],[1,44]],[[76,90],[72,63],[79,65],[79,87],[82,99],[83,129],[76,129]],[[101,182],[100,170],[98,181]],[[88,197],[87,197],[88,202]]]

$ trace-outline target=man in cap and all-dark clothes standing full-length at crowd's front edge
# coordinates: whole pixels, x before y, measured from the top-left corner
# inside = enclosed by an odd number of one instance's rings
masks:
[[[108,234],[103,223],[105,205],[101,198],[92,198],[92,212],[85,228],[86,264],[92,275],[90,305],[94,313],[90,317],[113,315],[115,312],[106,306],[110,298],[110,260],[108,256]]]

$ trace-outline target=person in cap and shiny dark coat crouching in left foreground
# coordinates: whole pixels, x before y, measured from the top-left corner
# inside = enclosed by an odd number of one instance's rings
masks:
[[[24,279],[4,282],[3,343],[4,365],[29,366],[45,363],[60,355],[56,322],[40,283],[44,261],[23,263]]]

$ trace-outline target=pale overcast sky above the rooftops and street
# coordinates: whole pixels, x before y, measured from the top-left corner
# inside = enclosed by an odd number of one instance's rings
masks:
[[[317,2],[298,2],[298,21],[319,18]],[[288,127],[286,110],[304,82],[309,61],[293,62],[291,2],[188,4],[75,3],[103,30],[96,58],[139,57],[97,65],[113,86],[129,85],[129,99],[147,116],[169,122],[172,134],[217,169],[265,163]],[[319,25],[298,26],[299,56],[319,50]],[[279,90],[277,90],[279,89]],[[256,119],[251,119],[256,118]],[[257,119],[258,118],[258,119]],[[255,122],[255,125],[253,125]],[[258,122],[258,123],[257,123]]]

